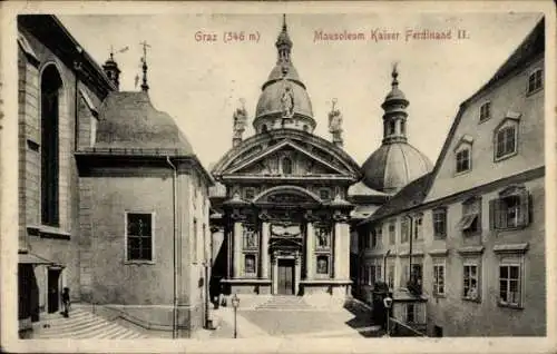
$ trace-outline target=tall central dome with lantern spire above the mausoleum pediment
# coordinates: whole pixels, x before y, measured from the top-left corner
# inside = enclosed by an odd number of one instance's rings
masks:
[[[253,127],[256,134],[273,129],[291,128],[313,132],[315,120],[310,96],[292,63],[292,40],[286,16],[275,42],[276,65],[262,86]]]

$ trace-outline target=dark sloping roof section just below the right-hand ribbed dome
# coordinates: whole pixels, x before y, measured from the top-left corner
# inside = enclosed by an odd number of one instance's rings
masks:
[[[427,195],[426,188],[428,187],[429,178],[431,178],[431,174],[427,174],[408,184],[398,194],[383,204],[383,206],[381,206],[371,217],[363,220],[362,224],[391,215],[397,215],[408,208],[421,204]]]

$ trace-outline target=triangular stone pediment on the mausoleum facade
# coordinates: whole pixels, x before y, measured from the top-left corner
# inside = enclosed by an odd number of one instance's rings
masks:
[[[320,176],[349,175],[334,161],[317,156],[291,140],[267,147],[231,164],[224,175]]]

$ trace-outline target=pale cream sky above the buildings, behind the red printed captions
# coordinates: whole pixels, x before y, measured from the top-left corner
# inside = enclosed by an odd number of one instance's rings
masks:
[[[287,13],[292,61],[312,100],[317,128],[331,140],[328,112],[333,98],[343,115],[344,149],[358,164],[381,145],[381,104],[398,63],[405,94],[409,142],[436,161],[459,105],[476,92],[518,47],[539,13]],[[120,90],[139,90],[143,41],[147,50],[149,96],[173,116],[205,167],[232,147],[232,117],[241,99],[248,129],[261,86],[276,62],[282,14],[59,16],[99,65],[114,47]],[[371,31],[400,32],[399,40],[375,41]],[[405,40],[407,30],[451,30],[450,40]],[[457,30],[466,39],[457,39]],[[315,41],[315,31],[363,32],[361,41]],[[244,41],[224,42],[226,32]],[[216,41],[196,40],[205,33]],[[258,40],[248,40],[248,33]],[[121,48],[129,49],[117,52]]]

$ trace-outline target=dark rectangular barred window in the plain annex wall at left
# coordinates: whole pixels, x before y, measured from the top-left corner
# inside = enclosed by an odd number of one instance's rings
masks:
[[[126,214],[127,260],[153,260],[153,215]]]

